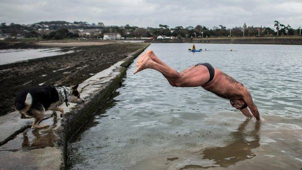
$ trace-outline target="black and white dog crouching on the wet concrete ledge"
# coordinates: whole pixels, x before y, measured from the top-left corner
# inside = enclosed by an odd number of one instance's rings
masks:
[[[15,107],[21,113],[21,118],[35,118],[32,129],[39,129],[48,126],[38,125],[45,116],[46,110],[60,111],[62,116],[64,110],[60,107],[63,102],[84,103],[77,90],[79,85],[72,87],[37,87],[23,90],[15,98]]]

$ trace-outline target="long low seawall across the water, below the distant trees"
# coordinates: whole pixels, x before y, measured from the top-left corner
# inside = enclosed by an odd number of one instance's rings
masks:
[[[191,38],[190,43],[220,44],[286,44],[302,45],[302,36],[298,37],[223,37],[223,38]]]

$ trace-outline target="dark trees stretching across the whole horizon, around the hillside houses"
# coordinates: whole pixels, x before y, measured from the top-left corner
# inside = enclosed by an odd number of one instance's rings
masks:
[[[56,21],[47,22],[47,24],[54,24]],[[86,22],[75,22],[75,24],[81,23],[83,25]],[[45,24],[41,22],[39,24]],[[59,24],[65,24],[65,21],[60,21]],[[55,26],[54,26],[55,27]],[[33,27],[27,27],[20,24],[11,23],[6,25],[6,23],[1,23],[0,34],[11,34],[15,36],[17,34],[22,34],[25,37],[42,37],[43,39],[64,39],[64,38],[78,38],[80,37],[78,33],[71,33],[67,27],[58,26],[52,32],[41,35]],[[82,29],[91,29],[91,27]],[[98,28],[95,26],[95,28]],[[254,27],[246,26],[226,28],[223,25],[214,26],[213,28],[207,28],[202,25],[196,26],[177,26],[170,28],[168,25],[159,24],[157,28],[147,27],[139,28],[136,26],[110,26],[101,27],[101,34],[94,36],[95,38],[103,37],[104,33],[120,33],[122,37],[156,37],[158,35],[175,36],[178,38],[184,37],[242,37],[242,36],[292,36],[300,35],[300,27],[297,29],[292,28],[289,24],[282,24],[279,21],[274,21],[274,27]]]

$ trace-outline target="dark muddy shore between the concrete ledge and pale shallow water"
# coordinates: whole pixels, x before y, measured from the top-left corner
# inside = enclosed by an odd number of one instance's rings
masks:
[[[13,111],[16,94],[25,88],[39,84],[70,86],[81,83],[146,45],[119,43],[79,46],[76,47],[77,52],[72,54],[0,65],[0,116]]]

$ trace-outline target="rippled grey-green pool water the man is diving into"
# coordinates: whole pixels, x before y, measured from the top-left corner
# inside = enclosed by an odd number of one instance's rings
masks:
[[[302,168],[302,46],[152,44],[176,70],[199,62],[242,82],[264,119],[201,87],[171,87],[132,63],[109,104],[71,140],[71,169]],[[147,50],[148,50],[147,49]],[[233,49],[233,51],[229,51]]]

